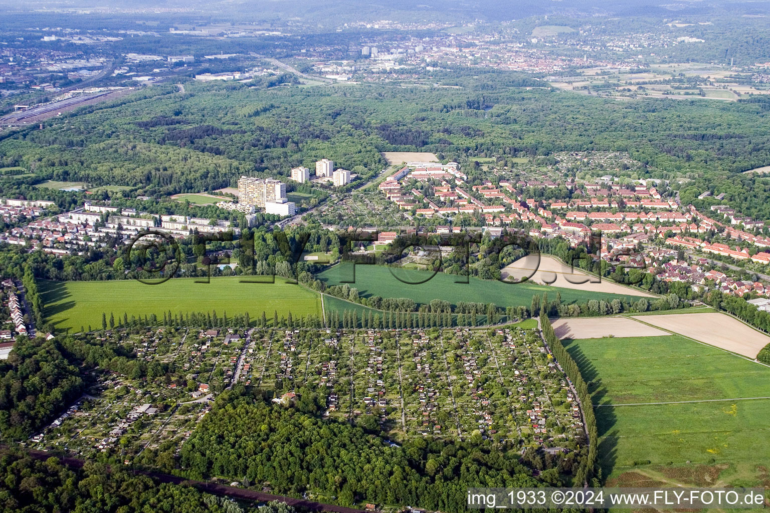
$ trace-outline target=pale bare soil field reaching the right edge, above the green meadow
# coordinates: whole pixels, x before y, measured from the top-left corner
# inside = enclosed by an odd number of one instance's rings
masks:
[[[770,343],[770,337],[767,335],[734,317],[716,311],[688,315],[646,315],[643,319],[658,328],[674,331],[749,358],[756,358],[759,350]]]

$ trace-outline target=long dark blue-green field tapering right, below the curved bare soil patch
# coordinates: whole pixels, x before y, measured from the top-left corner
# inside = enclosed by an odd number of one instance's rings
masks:
[[[463,276],[437,273],[429,281],[419,285],[409,285],[399,281],[391,273],[403,276],[407,281],[420,281],[430,278],[433,273],[403,268],[388,268],[382,265],[357,265],[356,282],[350,287],[357,288],[363,297],[379,295],[383,298],[412,298],[420,304],[430,303],[434,299],[444,299],[456,305],[458,301],[474,301],[494,303],[501,307],[530,306],[533,295],[548,293],[548,297],[556,298],[556,292],[561,292],[561,300],[565,303],[584,302],[588,299],[628,298],[638,301],[635,296],[615,294],[600,294],[597,292],[581,291],[570,288],[535,285],[530,283],[510,284],[502,281],[480,280],[468,278],[469,283],[455,283],[464,280]],[[353,264],[344,263],[326,269],[317,276],[326,285],[340,285],[343,280],[353,279]]]

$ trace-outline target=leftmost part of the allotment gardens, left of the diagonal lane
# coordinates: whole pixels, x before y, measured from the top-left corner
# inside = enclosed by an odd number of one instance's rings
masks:
[[[209,410],[209,398],[236,379],[246,344],[246,335],[216,329],[153,328],[99,338],[123,345],[136,360],[115,363],[116,371],[32,436],[32,448],[86,456],[120,451],[129,462],[174,451]]]

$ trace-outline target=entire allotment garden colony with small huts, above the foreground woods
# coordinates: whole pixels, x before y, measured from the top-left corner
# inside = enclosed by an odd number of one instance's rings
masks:
[[[316,415],[391,443],[481,436],[569,450],[582,434],[567,381],[531,328],[132,331],[98,337],[134,356],[110,362],[32,448],[171,465],[214,398],[236,385],[283,407],[304,407],[308,395]]]

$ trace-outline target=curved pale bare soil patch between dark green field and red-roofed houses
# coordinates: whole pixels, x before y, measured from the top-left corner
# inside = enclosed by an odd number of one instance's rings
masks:
[[[527,255],[507,265],[500,271],[500,278],[503,279],[510,277],[511,280],[518,281],[524,276],[529,277],[531,281],[557,287],[604,292],[606,294],[630,294],[644,296],[645,298],[656,297],[641,290],[641,288],[625,287],[609,280],[599,281],[599,278],[596,276],[588,275],[579,269],[574,269],[573,271],[569,265],[564,264],[561,260],[551,255],[540,255],[539,262],[537,255]],[[567,277],[571,281],[579,282],[584,281],[586,278],[588,278],[588,281],[585,283],[571,283],[567,281]]]

